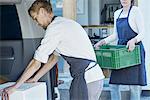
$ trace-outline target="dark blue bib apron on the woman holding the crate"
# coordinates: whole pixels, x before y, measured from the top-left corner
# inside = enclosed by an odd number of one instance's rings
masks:
[[[119,18],[123,11],[122,10],[116,21],[118,45],[127,45],[127,42],[137,35],[137,33],[131,29],[128,21],[131,8],[132,6],[130,7],[128,16],[126,18]],[[110,84],[141,86],[145,86],[147,84],[145,70],[145,50],[142,42],[137,44],[140,45],[141,64],[119,70],[112,70],[109,82]]]

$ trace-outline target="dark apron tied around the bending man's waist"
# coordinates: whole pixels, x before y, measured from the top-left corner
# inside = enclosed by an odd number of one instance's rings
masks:
[[[88,59],[62,56],[70,65],[70,73],[73,77],[69,90],[70,100],[88,100],[88,90],[84,74],[85,71],[95,67],[97,63]],[[86,69],[91,62],[95,62],[95,65]]]

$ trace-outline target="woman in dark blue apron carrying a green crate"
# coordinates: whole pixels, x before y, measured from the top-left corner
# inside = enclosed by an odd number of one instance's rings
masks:
[[[112,70],[110,77],[111,100],[121,100],[119,85],[129,85],[130,100],[140,100],[141,86],[147,84],[145,70],[145,51],[141,40],[144,37],[143,17],[138,7],[133,6],[134,0],[120,0],[122,8],[114,13],[114,33],[95,44],[101,45],[118,39],[118,45],[126,45],[128,51],[134,50],[135,45],[140,45],[141,64]],[[119,94],[119,95],[118,95]]]

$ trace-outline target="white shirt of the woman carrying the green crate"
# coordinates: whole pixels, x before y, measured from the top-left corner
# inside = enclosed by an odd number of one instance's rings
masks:
[[[106,41],[106,43],[110,43],[111,41],[118,39],[116,20],[117,20],[119,14],[121,13],[121,11],[122,11],[122,9],[119,9],[119,10],[115,11],[115,13],[114,13],[114,32],[112,35],[110,35],[109,37],[104,39]],[[125,18],[127,16],[128,16],[128,13],[126,13],[126,14],[121,13],[119,18]],[[135,38],[137,39],[137,42],[140,42],[144,38],[144,33],[145,33],[144,19],[143,19],[140,9],[136,6],[133,6],[131,8],[131,11],[129,14],[129,25],[132,28],[132,30],[138,34]]]

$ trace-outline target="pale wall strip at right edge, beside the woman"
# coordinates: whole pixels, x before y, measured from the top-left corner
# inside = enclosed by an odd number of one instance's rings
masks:
[[[143,17],[144,17],[144,23],[145,23],[145,37],[143,40],[143,44],[145,47],[145,51],[146,51],[146,69],[147,69],[147,80],[148,80],[148,84],[150,84],[150,13],[149,9],[150,9],[150,0],[139,0],[138,5],[143,13]],[[143,27],[143,26],[141,26]]]

